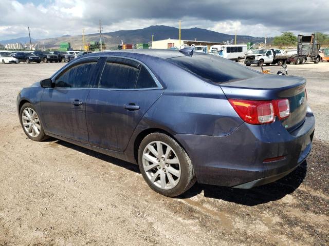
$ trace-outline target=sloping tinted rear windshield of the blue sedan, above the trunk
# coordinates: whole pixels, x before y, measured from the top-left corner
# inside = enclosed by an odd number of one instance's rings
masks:
[[[252,78],[261,74],[231,60],[209,54],[193,55],[192,57],[179,56],[167,60],[195,76],[215,84]]]

